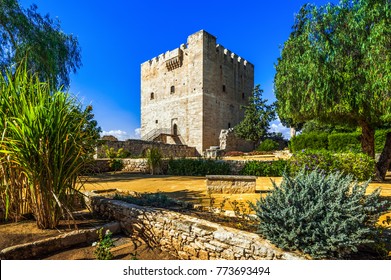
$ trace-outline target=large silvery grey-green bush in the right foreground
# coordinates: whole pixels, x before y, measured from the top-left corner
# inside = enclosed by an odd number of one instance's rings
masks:
[[[259,233],[282,249],[300,250],[315,259],[344,258],[374,243],[375,224],[390,207],[380,190],[366,196],[368,182],[351,175],[301,170],[284,175],[280,186],[252,205]]]

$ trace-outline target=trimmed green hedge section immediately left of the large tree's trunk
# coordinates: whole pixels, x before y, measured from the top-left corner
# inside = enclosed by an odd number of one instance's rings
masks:
[[[330,134],[328,149],[333,152],[361,152],[360,136],[360,132]]]

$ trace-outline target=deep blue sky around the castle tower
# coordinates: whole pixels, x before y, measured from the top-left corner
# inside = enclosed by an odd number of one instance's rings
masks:
[[[70,92],[92,104],[105,134],[136,138],[140,127],[140,64],[186,43],[201,29],[217,43],[255,65],[255,84],[275,100],[274,65],[288,39],[294,15],[305,3],[292,1],[19,0],[41,14],[58,17],[77,36],[83,66],[71,76]],[[276,121],[272,130],[288,135]]]

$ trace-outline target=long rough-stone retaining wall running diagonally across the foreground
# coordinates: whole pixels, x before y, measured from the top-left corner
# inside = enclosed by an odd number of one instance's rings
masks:
[[[95,214],[120,222],[129,235],[143,238],[183,260],[298,260],[257,234],[221,226],[165,209],[141,207],[87,193]]]

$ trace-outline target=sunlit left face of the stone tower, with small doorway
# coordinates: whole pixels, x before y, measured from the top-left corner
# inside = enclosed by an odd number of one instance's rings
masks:
[[[172,132],[176,125],[181,144],[202,151],[201,69],[202,41],[197,36],[141,65],[142,138],[155,129]],[[170,137],[166,141],[176,143]]]

